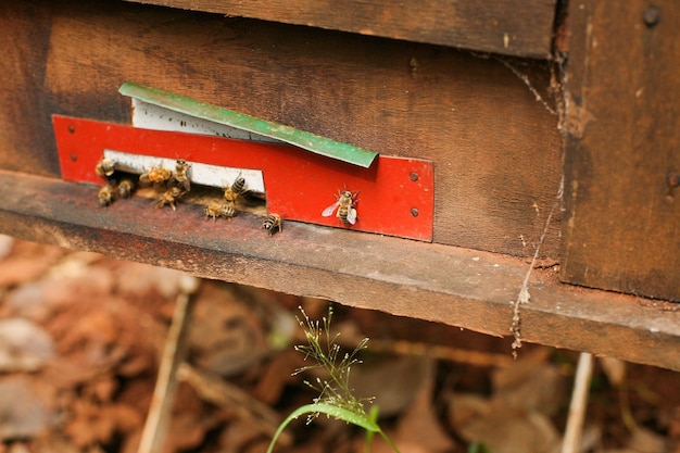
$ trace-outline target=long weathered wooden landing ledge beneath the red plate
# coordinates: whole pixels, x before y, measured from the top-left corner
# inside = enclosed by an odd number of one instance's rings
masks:
[[[508,336],[526,260],[257,216],[205,221],[201,206],[142,198],[98,207],[97,188],[0,171],[0,231],[227,281]],[[526,341],[680,370],[676,304],[563,285],[534,269]],[[508,340],[508,354],[509,354]]]

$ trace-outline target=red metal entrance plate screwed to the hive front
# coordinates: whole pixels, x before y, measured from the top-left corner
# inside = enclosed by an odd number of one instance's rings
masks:
[[[285,219],[432,240],[433,172],[429,161],[379,155],[362,168],[289,144],[235,140],[53,115],[65,180],[103,180],[95,166],[104,149],[263,172],[267,210]],[[338,190],[358,191],[355,225],[322,211]]]

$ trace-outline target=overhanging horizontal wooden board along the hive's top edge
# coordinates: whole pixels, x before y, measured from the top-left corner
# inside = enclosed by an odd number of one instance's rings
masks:
[[[546,59],[556,0],[128,0],[295,25]]]

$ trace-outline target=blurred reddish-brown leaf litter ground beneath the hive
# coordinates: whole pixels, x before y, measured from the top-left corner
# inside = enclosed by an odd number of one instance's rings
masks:
[[[0,453],[138,450],[181,274],[0,237]],[[416,303],[417,301],[414,301]],[[278,424],[316,397],[293,350],[294,316],[327,302],[202,281],[164,452],[264,452]],[[578,354],[335,306],[357,398],[375,397],[401,452],[559,451]],[[297,420],[276,452],[361,452],[363,432]],[[680,376],[601,360],[582,451],[680,452]],[[376,439],[373,452],[389,452]]]

